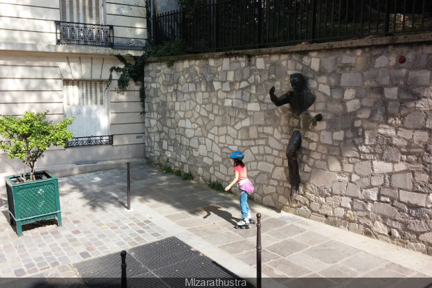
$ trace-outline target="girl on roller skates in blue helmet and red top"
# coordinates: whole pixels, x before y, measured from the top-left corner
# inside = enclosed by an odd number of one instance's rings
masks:
[[[240,219],[240,222],[237,223],[237,226],[249,228],[249,223],[255,223],[253,222],[251,210],[249,209],[249,205],[247,203],[248,195],[253,192],[253,185],[247,178],[246,166],[242,161],[244,154],[242,154],[240,151],[234,151],[230,158],[233,160],[235,177],[234,180],[231,181],[228,186],[226,186],[225,191],[230,190],[235,183],[238,183],[240,190],[240,209],[242,210],[242,219]]]

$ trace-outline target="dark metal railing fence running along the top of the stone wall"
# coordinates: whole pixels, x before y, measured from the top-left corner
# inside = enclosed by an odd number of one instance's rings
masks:
[[[152,38],[192,52],[330,42],[432,30],[432,0],[209,0],[152,18]]]

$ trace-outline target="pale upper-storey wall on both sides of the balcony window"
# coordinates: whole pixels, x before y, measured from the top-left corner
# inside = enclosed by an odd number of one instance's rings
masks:
[[[116,46],[142,47],[147,41],[145,1],[104,0],[105,25],[114,25]],[[0,0],[0,42],[56,44],[60,1]]]

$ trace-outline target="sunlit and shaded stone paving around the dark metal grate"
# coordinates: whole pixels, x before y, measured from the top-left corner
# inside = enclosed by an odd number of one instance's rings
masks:
[[[256,276],[257,230],[234,228],[237,195],[147,164],[132,165],[130,175],[131,210],[126,168],[60,177],[63,225],[55,219],[27,224],[21,237],[8,222],[1,188],[1,277],[76,278],[71,263],[172,235],[241,277]],[[249,204],[253,215],[262,214],[262,273],[282,286],[296,287],[296,278],[432,277],[428,255]]]

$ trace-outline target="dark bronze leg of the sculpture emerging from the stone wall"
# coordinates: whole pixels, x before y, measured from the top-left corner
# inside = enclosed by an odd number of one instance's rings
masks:
[[[289,139],[287,147],[287,158],[288,158],[288,170],[289,170],[289,181],[291,183],[291,195],[290,200],[294,200],[298,191],[298,184],[300,184],[300,171],[298,170],[297,161],[297,150],[301,146],[301,134],[300,131],[296,130]]]

